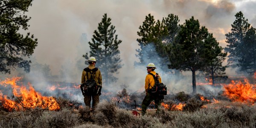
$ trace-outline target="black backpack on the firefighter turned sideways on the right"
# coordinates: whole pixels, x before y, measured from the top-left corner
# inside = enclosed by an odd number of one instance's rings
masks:
[[[151,95],[154,95],[154,96],[157,96],[158,99],[164,99],[164,95],[167,95],[167,87],[165,84],[163,83],[160,83],[158,78],[155,77],[154,74],[152,73],[148,73],[150,75],[152,75],[154,77],[154,81],[155,81],[155,84],[154,84],[154,87],[149,89],[149,86],[148,86],[148,93],[151,94]],[[158,75],[158,74],[157,74]]]

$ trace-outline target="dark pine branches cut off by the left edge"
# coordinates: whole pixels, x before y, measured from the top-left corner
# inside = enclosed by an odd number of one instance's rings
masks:
[[[38,42],[34,35],[27,33],[25,37],[18,33],[22,28],[27,30],[31,17],[27,17],[32,0],[0,1],[0,72],[10,73],[16,67],[30,71],[31,61],[25,60],[33,54]]]

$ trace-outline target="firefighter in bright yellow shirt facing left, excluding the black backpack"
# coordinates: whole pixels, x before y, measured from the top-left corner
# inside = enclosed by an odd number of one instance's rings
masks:
[[[161,82],[161,78],[160,76],[154,71],[156,69],[155,65],[153,63],[149,63],[147,65],[147,71],[148,73],[152,73],[154,74],[159,82]],[[148,92],[148,90],[152,89],[154,87],[155,81],[154,81],[154,77],[150,74],[148,74],[145,78],[145,91],[146,91],[146,96],[143,99],[142,102],[142,115],[145,115],[146,111],[147,111],[147,107],[148,105],[154,100],[155,103],[155,107],[157,108],[157,112],[160,110],[160,100],[157,99],[157,96],[154,96],[152,94],[150,94]]]

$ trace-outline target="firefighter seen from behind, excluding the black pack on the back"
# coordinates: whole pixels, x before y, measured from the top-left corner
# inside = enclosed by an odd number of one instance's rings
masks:
[[[94,68],[96,68],[95,67],[96,59],[94,57],[90,57],[87,60],[87,62],[89,63],[88,68],[90,70],[93,70]],[[93,74],[93,79],[96,81],[96,84],[101,88],[102,87],[102,75],[100,73],[100,70],[98,69],[98,70],[96,70],[95,73],[92,73],[92,74]],[[84,82],[87,80],[87,78],[90,79],[90,72],[87,73],[86,70],[84,69],[83,73],[82,73],[81,84],[84,84]],[[95,110],[97,104],[99,103],[99,95],[100,95],[100,92],[97,93],[96,95],[87,95],[87,94],[83,93],[85,106],[88,106],[90,108],[90,102],[91,102],[91,99],[93,99],[92,111]]]

